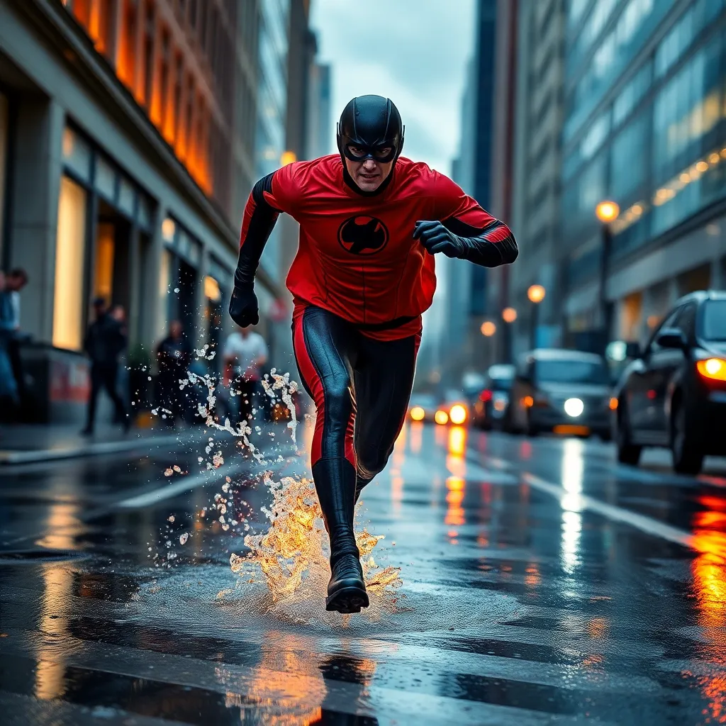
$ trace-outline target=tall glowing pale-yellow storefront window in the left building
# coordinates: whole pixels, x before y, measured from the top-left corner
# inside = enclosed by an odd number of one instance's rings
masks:
[[[55,246],[53,345],[57,348],[83,347],[83,285],[78,284],[78,270],[84,266],[85,240],[86,192],[63,176]]]

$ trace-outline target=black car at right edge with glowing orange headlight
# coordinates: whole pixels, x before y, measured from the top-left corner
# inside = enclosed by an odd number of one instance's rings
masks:
[[[726,293],[691,293],[666,315],[616,388],[618,459],[637,464],[643,446],[669,446],[673,468],[694,474],[703,457],[726,455]]]

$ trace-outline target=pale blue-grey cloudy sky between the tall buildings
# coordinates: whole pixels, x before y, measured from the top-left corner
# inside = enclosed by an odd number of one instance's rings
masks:
[[[319,60],[333,67],[333,130],[354,96],[386,96],[406,126],[404,156],[450,174],[473,20],[474,0],[312,0]]]

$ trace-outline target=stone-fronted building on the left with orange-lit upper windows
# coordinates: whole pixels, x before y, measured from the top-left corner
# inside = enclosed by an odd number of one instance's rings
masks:
[[[0,1],[0,258],[28,271],[21,325],[58,400],[84,396],[98,295],[126,308],[132,359],[171,319],[219,342],[256,175],[257,23],[254,1]],[[258,287],[279,296],[273,274]]]

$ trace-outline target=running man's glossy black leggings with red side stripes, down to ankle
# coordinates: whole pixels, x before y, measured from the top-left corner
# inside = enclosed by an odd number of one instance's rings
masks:
[[[338,540],[350,549],[354,503],[393,452],[406,420],[419,340],[373,340],[316,307],[293,321],[295,360],[317,408],[313,478],[333,550]]]

